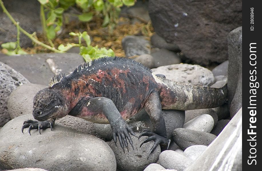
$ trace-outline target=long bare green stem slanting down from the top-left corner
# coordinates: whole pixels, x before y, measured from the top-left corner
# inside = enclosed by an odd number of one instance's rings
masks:
[[[7,9],[5,8],[4,4],[3,4],[3,1],[0,0],[0,5],[3,9],[3,12],[7,15],[7,17],[12,21],[12,23],[17,26],[17,22],[15,21],[15,19],[10,15],[10,13],[7,11]],[[62,51],[60,50],[57,50],[56,48],[54,47],[51,47],[51,46],[48,46],[47,44],[44,44],[42,42],[40,42],[39,40],[37,40],[36,38],[34,38],[31,34],[29,34],[28,32],[26,32],[23,28],[19,27],[19,30],[25,34],[27,37],[29,37],[33,42],[35,42],[36,44],[39,44],[41,46],[43,46],[44,48],[47,48],[49,50],[52,50],[53,52],[57,52],[57,53],[63,53]]]

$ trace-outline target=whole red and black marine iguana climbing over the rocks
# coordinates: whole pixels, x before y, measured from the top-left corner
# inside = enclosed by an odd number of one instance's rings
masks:
[[[59,73],[51,78],[49,87],[33,99],[33,116],[38,121],[25,121],[22,132],[29,127],[29,134],[31,129],[39,129],[41,134],[40,129],[52,130],[56,118],[71,115],[93,123],[109,123],[113,141],[116,143],[118,137],[124,150],[127,140],[133,147],[129,133],[135,136],[125,120],[144,108],[153,130],[143,131],[139,138],[149,136],[143,143],[155,141],[150,155],[158,144],[170,143],[162,109],[213,108],[226,101],[226,94],[226,86],[193,86],[157,77],[129,58],[99,58],[79,65],[67,76]]]

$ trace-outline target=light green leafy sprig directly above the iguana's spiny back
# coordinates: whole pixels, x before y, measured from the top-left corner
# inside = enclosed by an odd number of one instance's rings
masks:
[[[80,48],[80,54],[83,56],[86,62],[90,60],[94,60],[96,58],[101,58],[103,56],[115,56],[115,53],[112,49],[107,50],[106,48],[98,48],[97,45],[95,47],[91,46],[91,39],[86,31],[83,33],[71,32],[69,33],[69,35],[78,36],[78,40],[79,40],[78,44],[68,43],[66,46],[64,46],[63,44],[60,44],[58,46],[58,50],[66,52],[70,48],[74,46],[78,46]],[[82,38],[85,40],[85,43],[87,46],[82,45],[82,42],[81,42]]]

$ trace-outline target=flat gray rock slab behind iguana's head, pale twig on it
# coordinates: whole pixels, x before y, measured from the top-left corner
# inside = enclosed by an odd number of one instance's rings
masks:
[[[53,61],[49,62],[51,67],[46,62],[47,59]],[[50,78],[55,75],[51,70],[53,66],[54,70],[69,74],[78,65],[85,62],[81,55],[75,53],[43,53],[21,56],[0,55],[0,61],[20,72],[31,83],[45,86],[48,86]]]

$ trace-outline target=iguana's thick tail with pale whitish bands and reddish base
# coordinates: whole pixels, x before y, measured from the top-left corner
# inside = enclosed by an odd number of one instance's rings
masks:
[[[193,86],[155,77],[162,109],[192,110],[213,108],[227,100],[227,84],[223,87]]]

